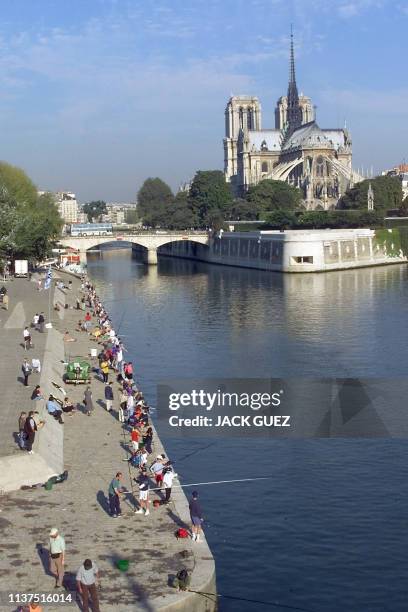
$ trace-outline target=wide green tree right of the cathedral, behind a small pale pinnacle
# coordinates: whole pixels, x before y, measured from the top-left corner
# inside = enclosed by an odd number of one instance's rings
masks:
[[[371,183],[374,192],[374,208],[383,211],[400,208],[402,204],[402,186],[399,178],[394,176],[376,176],[357,183],[340,198],[338,208],[366,209],[367,191]]]

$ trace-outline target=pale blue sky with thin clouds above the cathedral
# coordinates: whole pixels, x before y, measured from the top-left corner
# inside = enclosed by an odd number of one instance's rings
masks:
[[[355,168],[408,160],[408,0],[0,0],[0,159],[81,202],[223,168],[224,110],[299,92]]]

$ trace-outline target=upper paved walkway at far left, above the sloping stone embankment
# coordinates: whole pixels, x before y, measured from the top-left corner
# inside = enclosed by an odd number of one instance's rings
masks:
[[[36,312],[44,311],[48,317],[48,291],[38,291],[38,276],[33,275],[31,282],[26,278],[7,281],[4,286],[9,294],[9,310],[0,304],[0,456],[21,453],[16,444],[14,432],[18,431],[18,417],[23,410],[32,410],[30,396],[33,385],[39,384],[40,375],[29,377],[29,387],[23,385],[21,366],[24,357],[31,363],[33,357],[44,357],[47,333],[40,334],[30,328],[34,348],[28,351],[23,347],[23,329],[30,325]],[[0,281],[0,285],[2,285]]]

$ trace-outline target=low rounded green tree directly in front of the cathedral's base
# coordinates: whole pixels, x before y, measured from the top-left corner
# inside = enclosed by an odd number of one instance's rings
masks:
[[[246,199],[259,211],[295,210],[302,202],[302,192],[283,181],[265,179],[249,188]]]

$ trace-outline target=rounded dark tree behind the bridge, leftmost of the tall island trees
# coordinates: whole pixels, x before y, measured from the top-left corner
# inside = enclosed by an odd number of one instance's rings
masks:
[[[137,210],[144,225],[165,225],[168,207],[173,199],[173,192],[164,181],[159,178],[146,179],[137,194]]]

